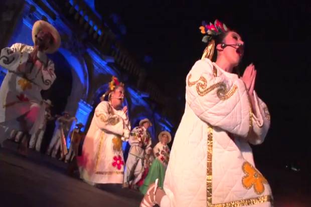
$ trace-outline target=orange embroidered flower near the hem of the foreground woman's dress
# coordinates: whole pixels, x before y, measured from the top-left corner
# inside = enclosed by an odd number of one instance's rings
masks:
[[[249,162],[244,162],[242,166],[243,172],[246,174],[242,178],[242,184],[246,189],[254,186],[254,191],[257,194],[264,192],[264,184],[267,184],[267,180],[262,176],[262,174],[253,167]]]

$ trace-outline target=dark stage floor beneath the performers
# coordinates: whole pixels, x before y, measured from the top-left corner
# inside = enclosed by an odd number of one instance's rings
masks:
[[[120,186],[96,188],[65,174],[66,164],[29,150],[16,153],[16,144],[0,148],[0,206],[139,206],[142,195]],[[276,207],[311,206],[310,172],[259,165],[268,179]]]

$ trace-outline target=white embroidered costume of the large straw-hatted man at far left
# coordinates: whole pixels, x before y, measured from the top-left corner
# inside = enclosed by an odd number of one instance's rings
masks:
[[[29,128],[30,134],[37,132],[43,122],[43,117],[36,117],[45,111],[40,92],[49,89],[56,78],[54,63],[45,53],[38,52],[35,64],[28,62],[32,51],[32,46],[16,43],[3,49],[0,56],[0,65],[8,69],[0,89],[0,124],[18,130]],[[25,120],[33,124],[21,126]]]

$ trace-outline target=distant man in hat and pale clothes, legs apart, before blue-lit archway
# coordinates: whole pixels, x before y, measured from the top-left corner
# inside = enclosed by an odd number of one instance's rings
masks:
[[[77,118],[71,116],[67,111],[64,111],[62,113],[62,116],[58,116],[55,121],[54,134],[47,150],[48,155],[51,154],[53,149],[52,157],[55,158],[58,151],[60,150],[60,160],[63,160],[65,158],[65,155],[68,153],[66,146],[66,137],[73,121],[77,121]]]

